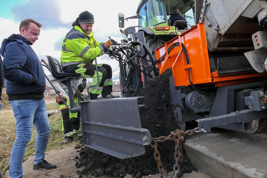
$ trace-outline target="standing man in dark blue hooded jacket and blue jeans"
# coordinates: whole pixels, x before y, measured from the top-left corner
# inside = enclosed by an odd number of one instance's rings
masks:
[[[22,163],[33,124],[37,130],[33,169],[50,170],[57,166],[48,163],[45,150],[50,135],[50,123],[45,105],[45,74],[30,45],[38,39],[42,25],[33,19],[20,23],[20,34],[4,39],[0,54],[4,57],[4,75],[9,104],[15,115],[17,136],[12,147],[9,176],[23,177]]]

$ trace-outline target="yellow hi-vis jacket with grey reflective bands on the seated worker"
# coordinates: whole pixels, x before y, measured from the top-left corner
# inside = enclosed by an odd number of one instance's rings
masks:
[[[69,66],[76,63],[93,63],[93,60],[104,54],[101,45],[104,43],[97,42],[90,34],[85,34],[79,26],[74,26],[64,37],[61,50],[61,65]]]

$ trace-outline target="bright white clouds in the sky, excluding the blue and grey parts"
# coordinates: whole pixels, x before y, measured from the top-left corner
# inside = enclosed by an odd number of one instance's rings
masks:
[[[126,5],[127,3],[130,5]],[[88,0],[76,0],[75,3],[73,3],[73,0],[58,0],[52,5],[58,6],[60,20],[63,23],[74,22],[81,12],[89,11],[94,15],[95,23],[93,31],[96,40],[100,41],[98,39],[103,39],[103,42],[106,42],[110,36],[112,39],[120,42],[123,37],[120,34],[121,28],[119,28],[118,14],[123,13],[125,18],[134,16],[136,15],[138,4],[139,0],[98,0],[90,2]],[[29,17],[30,15],[29,12]],[[0,17],[0,24],[2,27],[0,28],[0,42],[12,34],[19,33],[20,22],[18,21]],[[125,21],[125,28],[130,26],[138,26],[138,20],[130,19]],[[41,28],[39,39],[32,46],[39,59],[46,60],[46,55],[60,59],[61,51],[55,50],[55,43],[58,42],[58,40],[63,40],[63,37],[66,36],[71,28],[72,26],[69,28],[57,28],[55,26],[54,28],[47,28],[45,30]],[[110,60],[108,55],[103,55],[97,58],[97,62],[109,64],[113,70],[113,78],[118,77],[119,63],[115,59]],[[45,69],[45,73],[50,74],[47,69]]]

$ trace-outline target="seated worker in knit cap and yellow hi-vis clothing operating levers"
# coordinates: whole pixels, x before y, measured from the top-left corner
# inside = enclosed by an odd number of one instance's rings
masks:
[[[92,85],[96,85],[96,65],[93,61],[108,51],[116,42],[113,39],[106,43],[97,42],[93,36],[93,15],[82,12],[74,23],[73,28],[67,33],[62,43],[61,65],[64,72],[80,74],[85,78],[93,78]],[[103,98],[116,98],[112,96],[112,69],[108,64],[97,64],[99,84],[90,88],[90,98],[97,99],[98,95]]]

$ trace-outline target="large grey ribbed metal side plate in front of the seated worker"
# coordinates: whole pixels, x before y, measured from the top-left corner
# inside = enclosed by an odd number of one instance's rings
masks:
[[[83,144],[120,159],[143,155],[151,134],[141,126],[138,98],[82,101]]]

